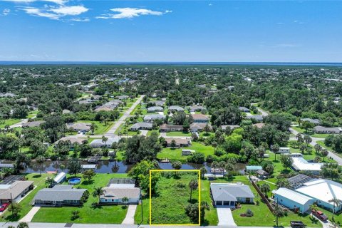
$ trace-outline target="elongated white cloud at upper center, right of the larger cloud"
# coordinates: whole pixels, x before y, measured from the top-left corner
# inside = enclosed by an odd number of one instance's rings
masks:
[[[155,16],[161,16],[162,14],[171,13],[172,11],[152,11],[150,9],[138,9],[138,8],[114,8],[110,9],[110,11],[113,11],[118,14],[103,14],[101,16],[97,16],[96,19],[132,19],[136,16],[142,16],[142,15],[155,15]]]

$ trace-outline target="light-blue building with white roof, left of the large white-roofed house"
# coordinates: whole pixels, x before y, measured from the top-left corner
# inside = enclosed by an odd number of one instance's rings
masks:
[[[314,204],[314,199],[302,195],[294,190],[289,190],[285,187],[280,187],[278,190],[273,190],[274,200],[279,204],[289,209],[298,209],[299,212],[304,213],[310,209],[310,206]]]

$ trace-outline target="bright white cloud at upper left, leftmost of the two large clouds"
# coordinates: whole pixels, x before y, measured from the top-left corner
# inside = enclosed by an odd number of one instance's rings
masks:
[[[85,13],[89,9],[84,6],[59,6],[58,8],[38,9],[26,7],[22,10],[31,16],[42,16],[48,19],[58,20],[63,16],[76,16]]]

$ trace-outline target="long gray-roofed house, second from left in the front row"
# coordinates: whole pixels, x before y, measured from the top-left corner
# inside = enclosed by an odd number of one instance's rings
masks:
[[[63,205],[81,205],[86,189],[73,188],[73,185],[55,185],[43,188],[33,197],[33,203],[40,207],[61,207]]]

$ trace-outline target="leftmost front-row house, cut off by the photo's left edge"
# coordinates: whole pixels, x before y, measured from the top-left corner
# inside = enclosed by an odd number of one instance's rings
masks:
[[[0,203],[18,202],[27,192],[33,190],[33,181],[16,180],[11,184],[0,185]]]

